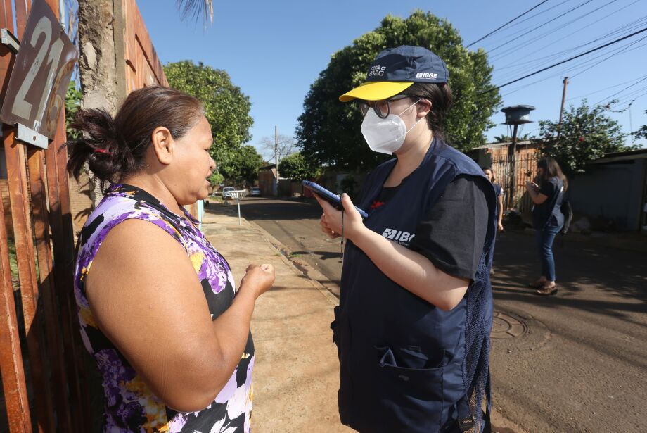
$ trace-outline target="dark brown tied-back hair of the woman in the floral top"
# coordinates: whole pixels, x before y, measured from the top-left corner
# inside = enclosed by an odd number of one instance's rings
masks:
[[[79,110],[71,127],[82,131],[83,137],[63,144],[68,148],[68,172],[79,180],[87,162],[102,187],[105,182],[119,182],[143,168],[156,127],[167,127],[179,139],[202,114],[198,99],[161,86],[129,94],[114,119],[102,108]]]

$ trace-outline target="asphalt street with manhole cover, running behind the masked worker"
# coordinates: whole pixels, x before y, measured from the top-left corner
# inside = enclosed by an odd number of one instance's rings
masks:
[[[338,283],[339,244],[321,235],[318,206],[245,199],[241,210],[285,244],[293,261]],[[541,298],[526,286],[537,272],[533,242],[532,232],[520,231],[497,241],[497,410],[527,432],[645,431],[647,254],[558,239],[560,291]]]

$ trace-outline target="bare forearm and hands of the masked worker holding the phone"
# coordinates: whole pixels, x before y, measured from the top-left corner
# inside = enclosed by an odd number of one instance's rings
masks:
[[[316,195],[315,198],[324,209],[322,231],[331,237],[338,236],[341,212]],[[442,310],[451,310],[463,299],[470,280],[452,277],[436,268],[425,256],[366,228],[346,194],[342,195],[342,204],[345,208],[344,236],[364,251],[387,277]]]

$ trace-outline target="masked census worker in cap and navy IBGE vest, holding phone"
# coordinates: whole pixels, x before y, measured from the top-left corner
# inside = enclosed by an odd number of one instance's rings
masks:
[[[321,226],[347,239],[333,340],[341,421],[359,432],[482,432],[489,424],[489,332],[496,198],[444,141],[447,65],[419,46],[382,51],[358,104],[361,132],[393,155],[355,205],[319,200]],[[358,125],[359,127],[359,125]],[[486,404],[487,403],[487,404]]]

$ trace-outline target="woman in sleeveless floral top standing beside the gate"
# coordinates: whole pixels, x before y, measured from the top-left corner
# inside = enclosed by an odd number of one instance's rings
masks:
[[[240,286],[184,205],[207,196],[211,127],[165,87],[132,92],[113,119],[83,110],[68,170],[110,183],[79,237],[81,335],[105,394],[104,432],[250,430],[250,320],[274,282],[250,265]]]

